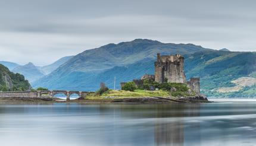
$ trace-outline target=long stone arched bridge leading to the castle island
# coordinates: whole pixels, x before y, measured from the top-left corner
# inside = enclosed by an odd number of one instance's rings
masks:
[[[23,98],[40,98],[40,97],[54,97],[57,94],[64,94],[67,100],[70,100],[72,94],[77,94],[79,98],[85,99],[91,93],[88,91],[68,91],[68,90],[43,90],[43,91],[7,91],[1,92],[0,97],[23,97]],[[44,96],[43,96],[44,95]]]

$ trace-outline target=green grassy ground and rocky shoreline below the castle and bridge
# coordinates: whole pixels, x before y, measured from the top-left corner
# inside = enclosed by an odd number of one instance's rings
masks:
[[[175,92],[175,91],[174,91]],[[85,99],[63,100],[47,96],[41,98],[2,97],[0,104],[18,103],[209,103],[200,96],[174,97],[170,91],[164,90],[107,90],[102,94],[90,93]]]

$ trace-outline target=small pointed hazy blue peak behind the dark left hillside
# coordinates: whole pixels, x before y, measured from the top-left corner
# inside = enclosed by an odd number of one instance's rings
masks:
[[[44,76],[43,72],[31,62],[23,66],[17,66],[13,69],[13,72],[23,74],[26,80],[29,80],[29,82],[36,81]]]

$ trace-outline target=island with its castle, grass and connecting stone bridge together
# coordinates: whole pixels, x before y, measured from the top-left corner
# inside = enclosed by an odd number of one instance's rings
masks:
[[[155,74],[120,82],[121,90],[110,90],[102,82],[96,92],[38,88],[32,91],[2,91],[0,103],[207,103],[200,94],[200,79],[186,80],[182,55],[157,54]],[[65,94],[66,100],[54,97]],[[79,98],[70,100],[77,94]]]

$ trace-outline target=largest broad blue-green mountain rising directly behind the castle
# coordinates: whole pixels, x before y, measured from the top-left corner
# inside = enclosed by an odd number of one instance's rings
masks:
[[[95,91],[100,82],[113,88],[116,77],[116,87],[120,88],[120,82],[132,81],[143,74],[154,74],[158,52],[161,55],[180,53],[185,56],[187,79],[200,77],[202,93],[207,96],[256,97],[254,84],[241,86],[234,83],[243,77],[256,78],[255,52],[212,50],[192,44],[160,43],[142,39],[86,50],[51,74],[35,81],[33,86]],[[232,88],[227,88],[236,86],[240,90],[232,91]],[[223,88],[227,92],[220,92]]]

